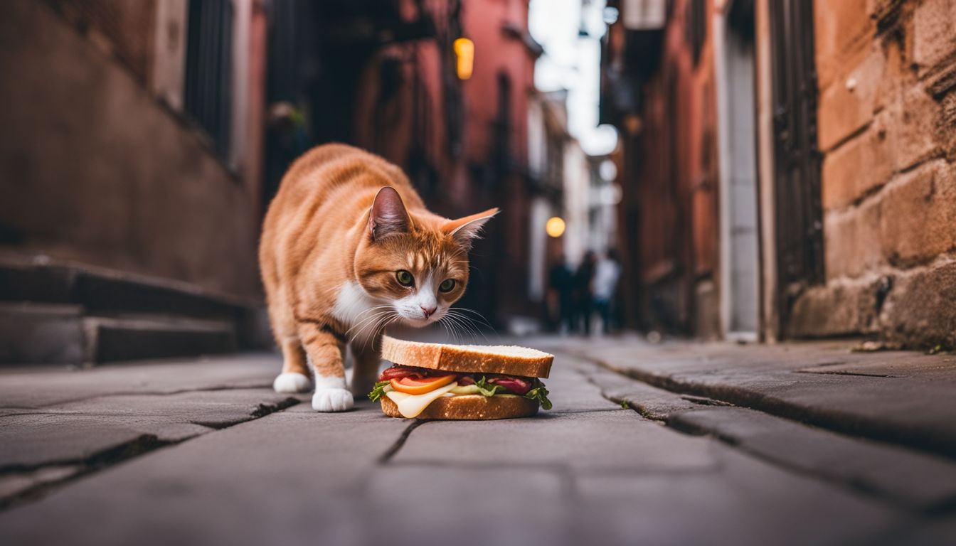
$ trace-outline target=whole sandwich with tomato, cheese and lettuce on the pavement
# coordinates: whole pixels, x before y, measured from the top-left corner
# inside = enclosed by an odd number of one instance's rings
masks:
[[[554,355],[526,347],[419,343],[384,336],[381,358],[393,362],[369,393],[389,417],[511,419],[551,409],[539,378]]]

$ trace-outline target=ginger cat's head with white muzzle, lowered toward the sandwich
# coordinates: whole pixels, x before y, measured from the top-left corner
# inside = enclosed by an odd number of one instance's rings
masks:
[[[410,213],[395,188],[382,187],[356,251],[359,285],[410,326],[445,317],[465,294],[471,241],[497,213],[491,208],[458,220]]]

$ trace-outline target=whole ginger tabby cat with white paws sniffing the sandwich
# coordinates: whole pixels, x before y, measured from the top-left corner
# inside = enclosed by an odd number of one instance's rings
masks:
[[[384,327],[421,327],[464,293],[467,251],[496,213],[458,220],[429,212],[379,156],[324,144],[295,161],[269,207],[259,263],[282,349],[277,392],[308,392],[316,411],[344,411],[372,389]],[[355,370],[346,389],[346,344]]]

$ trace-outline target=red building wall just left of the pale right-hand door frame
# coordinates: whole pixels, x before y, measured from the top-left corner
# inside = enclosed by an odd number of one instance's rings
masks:
[[[619,231],[630,251],[625,293],[638,310],[631,322],[710,336],[717,329],[716,98],[708,40],[694,52],[691,4],[672,4],[658,53],[648,54],[660,57],[645,59],[653,69],[642,81],[640,121],[622,123]],[[708,21],[712,7],[704,5]]]

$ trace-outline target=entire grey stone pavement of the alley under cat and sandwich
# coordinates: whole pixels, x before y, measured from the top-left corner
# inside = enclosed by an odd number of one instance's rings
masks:
[[[952,357],[525,342],[554,410],[498,422],[315,413],[272,355],[6,370],[0,543],[956,540]]]

